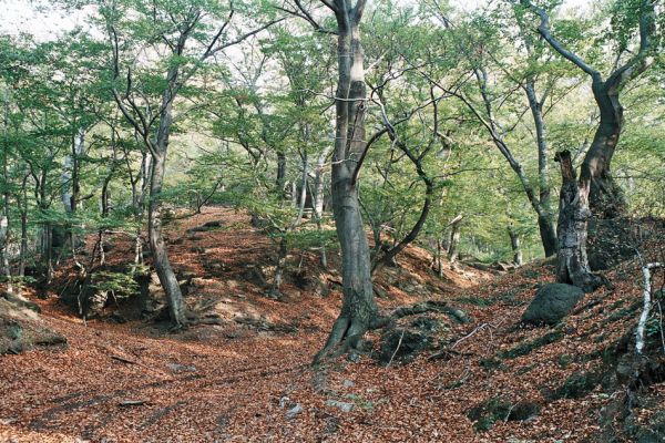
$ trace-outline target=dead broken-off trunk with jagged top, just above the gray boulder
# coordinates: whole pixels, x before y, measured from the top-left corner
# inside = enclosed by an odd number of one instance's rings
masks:
[[[603,284],[603,279],[591,272],[586,258],[586,229],[590,182],[580,177],[577,182],[571,153],[563,151],[554,157],[561,165],[561,195],[559,202],[559,235],[556,279],[591,292]]]

